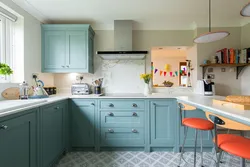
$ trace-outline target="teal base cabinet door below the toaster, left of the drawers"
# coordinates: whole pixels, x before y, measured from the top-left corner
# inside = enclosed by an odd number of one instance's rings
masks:
[[[72,102],[71,114],[72,147],[94,147],[94,102]]]

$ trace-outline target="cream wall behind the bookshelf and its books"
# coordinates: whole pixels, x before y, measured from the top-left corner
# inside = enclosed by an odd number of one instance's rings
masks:
[[[197,45],[197,79],[202,78],[202,68],[199,67],[199,65],[203,64],[204,59],[211,59],[216,51],[222,48],[241,48],[241,27],[213,28],[213,31],[216,30],[229,31],[231,34],[227,38],[217,42]],[[198,28],[197,34],[202,34],[206,31],[207,28]],[[241,93],[241,80],[236,80],[235,72],[229,72],[229,68],[226,69],[226,72],[220,72],[221,68],[219,67],[213,69],[213,74],[215,74],[214,82],[216,84],[216,94],[226,96]]]

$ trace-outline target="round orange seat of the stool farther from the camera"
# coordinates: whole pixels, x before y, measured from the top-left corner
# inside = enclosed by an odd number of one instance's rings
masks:
[[[202,118],[184,118],[182,124],[199,130],[212,130],[214,128],[212,122]]]

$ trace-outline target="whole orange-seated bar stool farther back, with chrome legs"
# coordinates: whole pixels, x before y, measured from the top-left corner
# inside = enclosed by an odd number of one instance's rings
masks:
[[[185,161],[185,159],[183,158],[183,154],[184,154],[184,145],[185,145],[186,138],[187,138],[188,128],[195,129],[194,167],[196,166],[197,137],[198,137],[198,132],[200,131],[201,166],[203,166],[202,131],[208,131],[209,130],[211,132],[212,137],[213,137],[212,130],[214,129],[214,125],[213,125],[213,123],[211,123],[207,119],[202,119],[202,118],[182,118],[182,112],[194,111],[194,110],[196,110],[196,107],[193,107],[193,106],[190,106],[190,105],[187,105],[187,104],[183,104],[183,103],[179,103],[178,106],[179,106],[179,109],[180,109],[181,123],[184,126],[184,140],[183,140],[183,144],[182,144],[182,147],[181,147],[181,155],[180,155],[180,161],[179,161],[178,166],[180,167],[181,159],[183,159]]]

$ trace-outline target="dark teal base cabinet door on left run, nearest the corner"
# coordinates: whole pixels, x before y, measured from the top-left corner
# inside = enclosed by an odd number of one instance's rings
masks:
[[[58,102],[40,109],[41,166],[52,166],[67,146],[67,103]]]

